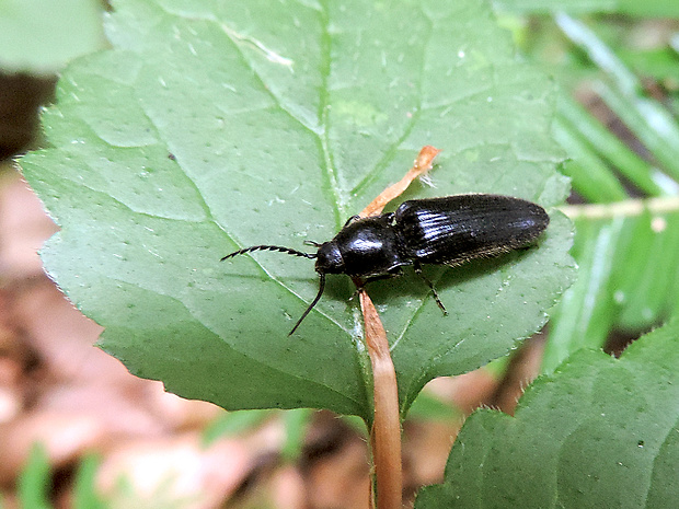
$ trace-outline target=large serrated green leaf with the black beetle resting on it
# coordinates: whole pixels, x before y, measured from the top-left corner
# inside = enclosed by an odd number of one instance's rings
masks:
[[[253,253],[331,239],[424,144],[435,188],[565,198],[549,80],[517,60],[482,1],[119,1],[111,51],[78,61],[44,116],[51,148],[22,161],[61,227],[51,277],[104,325],[136,374],[228,409],[371,415],[369,361],[348,278],[292,337],[318,290],[308,259]],[[403,410],[422,386],[504,355],[568,286],[571,224],[539,247],[428,267],[450,316],[406,271],[369,287]]]

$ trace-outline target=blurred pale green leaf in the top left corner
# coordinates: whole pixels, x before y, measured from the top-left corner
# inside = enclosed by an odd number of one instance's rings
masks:
[[[54,73],[104,45],[97,0],[0,0],[0,66]]]

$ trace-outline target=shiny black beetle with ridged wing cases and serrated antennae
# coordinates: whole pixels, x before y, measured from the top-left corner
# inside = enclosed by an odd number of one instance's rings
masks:
[[[457,266],[527,247],[549,222],[542,207],[510,196],[470,194],[413,199],[401,204],[395,212],[349,218],[333,240],[322,244],[307,242],[318,247],[315,253],[254,245],[221,259],[260,250],[315,258],[319,292],[290,331],[292,335],[321,299],[326,274],[376,279],[396,276],[401,267],[412,265],[446,313],[434,286],[422,275],[422,264]]]

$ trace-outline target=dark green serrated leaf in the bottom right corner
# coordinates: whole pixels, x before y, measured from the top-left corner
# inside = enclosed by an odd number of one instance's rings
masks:
[[[580,350],[539,378],[516,416],[464,424],[445,484],[417,509],[674,508],[679,500],[679,322],[620,360]]]

